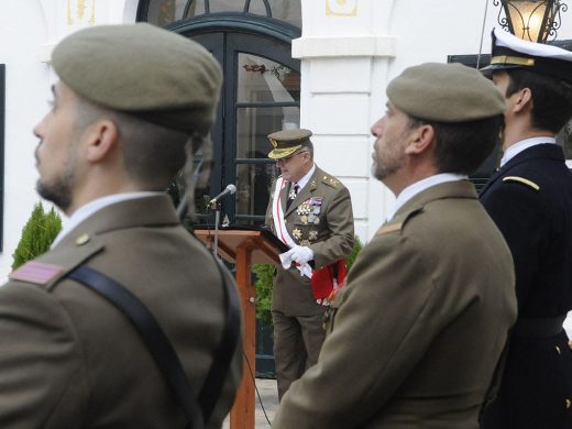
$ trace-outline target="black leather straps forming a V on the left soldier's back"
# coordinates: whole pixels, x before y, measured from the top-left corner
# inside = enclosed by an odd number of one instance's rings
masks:
[[[135,295],[113,278],[85,265],[67,275],[103,296],[131,320],[165,377],[175,400],[183,408],[189,429],[202,429],[205,422],[209,421],[240,337],[240,307],[237,289],[229,282],[228,275],[224,275],[221,263],[219,261],[216,263],[224,285],[227,318],[221,342],[199,394],[198,403],[175,349],[153,315]]]

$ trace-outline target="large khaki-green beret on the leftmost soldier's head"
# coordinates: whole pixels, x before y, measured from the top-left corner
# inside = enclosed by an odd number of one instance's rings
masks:
[[[182,35],[140,23],[97,25],[64,38],[52,65],[76,94],[106,108],[185,132],[208,133],[222,72]]]

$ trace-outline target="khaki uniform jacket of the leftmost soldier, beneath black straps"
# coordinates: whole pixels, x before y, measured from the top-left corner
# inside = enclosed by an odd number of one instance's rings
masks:
[[[108,206],[36,262],[59,273],[0,287],[0,428],[184,428],[182,410],[125,316],[62,277],[85,264],[134,293],[200,389],[221,338],[222,280],[170,199]],[[220,428],[233,403],[238,349],[208,428]]]

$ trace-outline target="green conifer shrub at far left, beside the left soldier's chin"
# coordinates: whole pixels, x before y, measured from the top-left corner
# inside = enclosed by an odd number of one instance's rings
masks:
[[[62,217],[52,208],[44,212],[42,202],[34,206],[32,216],[22,229],[22,238],[12,254],[12,270],[45,253],[62,229]]]

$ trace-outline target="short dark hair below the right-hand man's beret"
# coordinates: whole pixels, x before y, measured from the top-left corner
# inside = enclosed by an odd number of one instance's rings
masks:
[[[435,130],[433,161],[439,173],[473,174],[499,141],[504,116],[466,122],[436,122],[411,118],[409,127]]]

